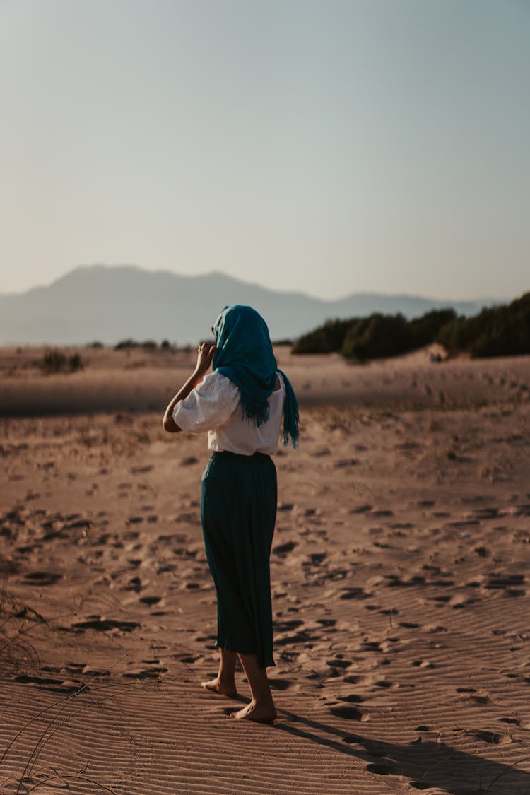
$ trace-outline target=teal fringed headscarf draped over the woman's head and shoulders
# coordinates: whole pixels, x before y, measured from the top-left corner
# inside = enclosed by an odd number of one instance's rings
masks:
[[[269,329],[250,306],[226,306],[214,325],[213,369],[241,390],[243,416],[258,427],[269,417],[277,371],[285,384],[284,444],[298,447],[298,401],[287,376],[277,369]]]

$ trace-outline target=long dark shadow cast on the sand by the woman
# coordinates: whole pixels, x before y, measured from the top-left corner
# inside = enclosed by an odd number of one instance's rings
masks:
[[[326,723],[304,718],[287,710],[280,709],[278,713],[280,719],[273,724],[277,731],[285,731],[338,750],[342,754],[362,759],[367,762],[366,770],[370,773],[404,776],[416,789],[439,787],[451,795],[530,793],[530,773],[516,768],[516,764],[530,760],[530,755],[515,764],[503,765],[501,762],[492,762],[490,759],[455,750],[443,743],[432,743],[424,739],[416,740],[410,745],[385,743],[361,735],[346,735]],[[314,729],[319,734],[308,729]]]

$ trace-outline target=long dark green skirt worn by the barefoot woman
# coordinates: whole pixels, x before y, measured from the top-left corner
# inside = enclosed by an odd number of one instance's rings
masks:
[[[201,520],[217,591],[217,643],[274,665],[269,557],[277,509],[270,456],[214,452],[203,473]]]

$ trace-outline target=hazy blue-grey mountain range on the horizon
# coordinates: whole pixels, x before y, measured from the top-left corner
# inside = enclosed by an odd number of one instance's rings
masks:
[[[79,266],[45,287],[0,294],[0,343],[114,344],[120,339],[169,339],[195,344],[226,304],[250,304],[265,317],[273,339],[296,338],[328,318],[402,312],[417,317],[453,307],[474,315],[493,301],[435,301],[407,295],[354,293],[323,301],[280,293],[223,273],[180,276],[137,266]]]

